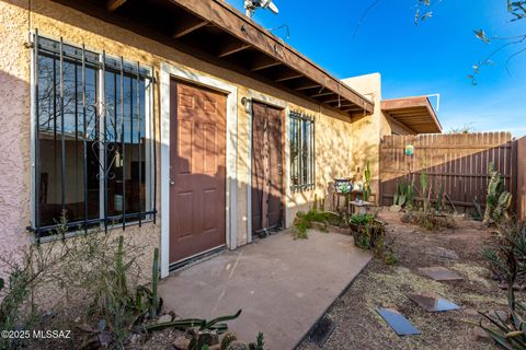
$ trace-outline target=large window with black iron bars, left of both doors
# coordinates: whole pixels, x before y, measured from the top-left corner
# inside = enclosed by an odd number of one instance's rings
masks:
[[[32,36],[33,222],[37,238],[156,219],[152,70]]]

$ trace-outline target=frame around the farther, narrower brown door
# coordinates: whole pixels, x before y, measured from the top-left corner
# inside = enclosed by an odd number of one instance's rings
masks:
[[[247,107],[247,113],[249,115],[249,142],[248,142],[248,154],[249,154],[249,160],[247,162],[247,173],[248,173],[248,179],[247,179],[247,242],[251,243],[253,241],[252,237],[252,132],[253,132],[253,125],[252,125],[252,119],[253,119],[253,113],[252,113],[252,102],[255,101],[261,104],[268,105],[271,107],[279,108],[283,109],[283,113],[285,114],[283,116],[282,120],[282,176],[283,176],[283,188],[282,188],[282,206],[283,206],[283,222],[285,226],[288,226],[287,220],[288,220],[288,208],[287,208],[287,201],[286,198],[288,196],[288,122],[287,122],[287,116],[288,116],[288,104],[286,101],[268,96],[262,93],[259,93],[253,90],[247,91],[247,98],[249,102],[249,106]]]

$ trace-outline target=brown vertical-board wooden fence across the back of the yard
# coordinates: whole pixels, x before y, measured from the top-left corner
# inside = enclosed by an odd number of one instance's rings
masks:
[[[405,155],[407,145],[414,148],[413,155]],[[392,205],[397,185],[404,178],[420,192],[424,171],[434,196],[442,187],[458,212],[474,210],[474,201],[484,208],[490,162],[503,175],[518,207],[517,140],[510,132],[387,136],[380,143],[381,205]]]

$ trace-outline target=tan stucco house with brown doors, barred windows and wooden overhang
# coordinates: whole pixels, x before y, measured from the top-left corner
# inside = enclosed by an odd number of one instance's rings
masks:
[[[382,135],[424,130],[399,114],[414,106],[381,101],[379,75],[353,90],[222,1],[0,13],[2,255],[48,240],[65,211],[72,234],[125,230],[148,261],[160,246],[165,277],[289,226],[333,178],[377,168]]]

